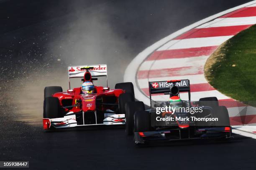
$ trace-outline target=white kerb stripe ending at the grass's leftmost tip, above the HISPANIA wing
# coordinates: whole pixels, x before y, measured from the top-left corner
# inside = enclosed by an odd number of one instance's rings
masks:
[[[165,60],[149,60],[142,63],[139,70],[159,70],[165,68],[189,67],[205,65],[209,56],[173,58]],[[200,65],[199,65],[200,64]],[[161,66],[161,67],[159,67]]]

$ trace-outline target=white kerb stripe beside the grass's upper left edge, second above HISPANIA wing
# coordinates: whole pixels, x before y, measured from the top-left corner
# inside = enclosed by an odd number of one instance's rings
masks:
[[[233,37],[231,36],[220,36],[220,37],[203,37],[203,38],[189,38],[182,40],[172,40],[167,42],[165,45],[157,49],[161,50],[174,50],[174,49],[184,49],[184,48],[195,48],[195,47],[209,47],[221,45],[226,40]]]

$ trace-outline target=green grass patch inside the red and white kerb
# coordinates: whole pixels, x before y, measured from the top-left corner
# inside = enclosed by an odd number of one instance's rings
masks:
[[[205,74],[210,84],[233,99],[256,101],[256,25],[225,42],[214,55],[216,62]]]

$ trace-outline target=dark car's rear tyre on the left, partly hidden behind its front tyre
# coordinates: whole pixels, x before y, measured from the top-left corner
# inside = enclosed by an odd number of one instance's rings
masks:
[[[136,111],[144,111],[145,105],[143,102],[127,102],[125,104],[125,133],[126,135],[133,134],[134,113]]]

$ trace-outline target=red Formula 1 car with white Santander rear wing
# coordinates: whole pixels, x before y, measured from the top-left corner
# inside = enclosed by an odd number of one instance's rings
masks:
[[[69,89],[59,86],[44,89],[44,130],[93,125],[124,125],[125,103],[134,101],[131,82],[108,87],[107,65],[80,65],[68,67]],[[95,86],[95,92],[83,94],[81,87],[70,88],[71,78],[93,82],[105,76],[107,87]]]

